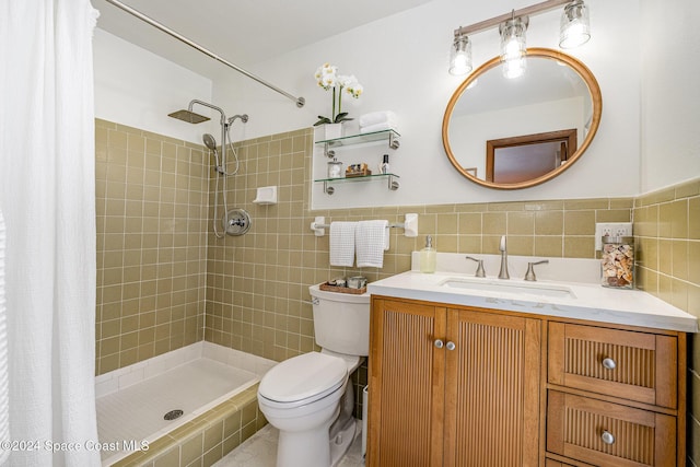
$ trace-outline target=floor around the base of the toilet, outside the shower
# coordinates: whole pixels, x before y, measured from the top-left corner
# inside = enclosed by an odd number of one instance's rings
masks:
[[[277,429],[267,424],[213,467],[275,467],[277,459]],[[358,434],[337,467],[364,467],[362,433]]]

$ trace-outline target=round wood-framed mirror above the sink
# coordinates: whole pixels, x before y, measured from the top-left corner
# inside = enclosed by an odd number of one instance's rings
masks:
[[[490,188],[517,189],[556,177],[585,152],[600,122],[595,77],[575,58],[527,49],[526,71],[505,78],[500,57],[452,95],[442,141],[455,168]]]

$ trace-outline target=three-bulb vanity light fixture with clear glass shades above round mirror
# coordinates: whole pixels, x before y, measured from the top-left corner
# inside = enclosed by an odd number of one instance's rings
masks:
[[[468,36],[499,26],[501,58],[506,63],[504,73],[512,78],[522,74],[526,61],[523,57],[526,50],[525,31],[527,30],[529,16],[564,4],[565,8],[560,22],[559,46],[572,48],[585,44],[591,37],[591,27],[588,24],[588,8],[585,5],[584,0],[546,0],[455,30],[450,54],[450,73],[466,74],[471,71],[471,42]],[[578,37],[578,39],[574,39],[574,37]],[[509,39],[508,42],[506,38]],[[511,40],[516,42],[512,43]],[[518,51],[521,54],[520,60],[506,58],[512,57],[511,54],[518,54]]]

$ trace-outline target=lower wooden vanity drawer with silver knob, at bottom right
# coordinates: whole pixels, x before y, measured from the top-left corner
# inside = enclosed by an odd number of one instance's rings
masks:
[[[675,466],[676,418],[549,390],[547,451],[598,466]]]

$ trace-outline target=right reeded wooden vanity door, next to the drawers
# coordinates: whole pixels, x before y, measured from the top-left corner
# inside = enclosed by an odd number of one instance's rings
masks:
[[[445,466],[537,466],[541,322],[447,311]]]

